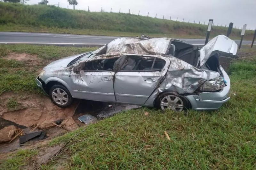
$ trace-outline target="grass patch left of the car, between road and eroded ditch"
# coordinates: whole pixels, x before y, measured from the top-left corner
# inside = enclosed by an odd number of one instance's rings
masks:
[[[36,76],[52,60],[70,55],[93,51],[97,47],[62,47],[36,45],[0,45],[0,95],[4,92],[42,93],[35,83]],[[36,63],[6,60],[8,53],[29,53],[37,55]]]

